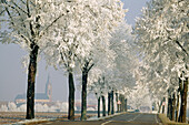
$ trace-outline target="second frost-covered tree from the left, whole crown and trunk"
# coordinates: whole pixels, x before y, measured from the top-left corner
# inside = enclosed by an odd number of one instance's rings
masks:
[[[64,15],[57,21],[58,23],[53,24],[53,29],[48,31],[48,35],[54,35],[56,38],[49,37],[46,39],[47,43],[44,54],[49,65],[64,70],[68,73],[68,118],[73,119],[73,70],[76,67],[78,56],[84,56],[88,53],[88,51],[84,51],[84,48],[90,50],[91,43],[88,40],[90,40],[90,35],[92,34],[89,31],[89,10],[83,1],[62,1],[62,11],[64,12]]]

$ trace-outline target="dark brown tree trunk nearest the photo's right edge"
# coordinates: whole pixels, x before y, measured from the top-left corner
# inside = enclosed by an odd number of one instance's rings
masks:
[[[187,92],[188,92],[188,77],[183,81],[183,88],[181,91],[181,107],[180,107],[180,116],[179,122],[186,123],[187,117]]]

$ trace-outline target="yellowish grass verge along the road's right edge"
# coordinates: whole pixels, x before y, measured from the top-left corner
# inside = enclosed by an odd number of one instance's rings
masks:
[[[170,121],[165,114],[159,114],[159,118],[161,119],[163,125],[189,125],[187,123],[177,123],[177,122]]]

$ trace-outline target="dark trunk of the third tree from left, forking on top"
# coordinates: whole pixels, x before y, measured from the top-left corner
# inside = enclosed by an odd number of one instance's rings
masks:
[[[81,121],[87,119],[87,79],[88,72],[82,71]]]

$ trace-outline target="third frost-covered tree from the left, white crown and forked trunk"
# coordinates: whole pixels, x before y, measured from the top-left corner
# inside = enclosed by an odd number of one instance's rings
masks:
[[[81,94],[81,121],[84,121],[86,112],[87,112],[87,84],[88,84],[88,73],[93,67],[93,65],[98,65],[99,55],[103,55],[101,53],[108,54],[109,42],[108,38],[110,37],[110,32],[116,28],[116,25],[123,19],[125,10],[122,9],[122,2],[120,0],[117,1],[93,1],[91,2],[94,15],[91,17],[94,21],[91,23],[93,31],[93,40],[92,50],[89,51],[89,54],[80,58],[81,71],[82,71],[82,94]],[[96,8],[93,8],[96,7]],[[105,20],[106,18],[106,20]],[[105,52],[103,52],[105,51]]]

